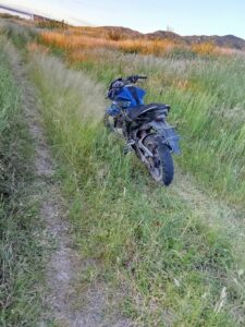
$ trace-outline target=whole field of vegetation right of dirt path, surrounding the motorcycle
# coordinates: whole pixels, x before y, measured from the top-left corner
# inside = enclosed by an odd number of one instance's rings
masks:
[[[26,41],[26,59],[77,247],[96,262],[77,289],[103,280],[136,326],[244,326],[243,53],[128,55],[54,34]],[[177,170],[194,177],[198,194],[188,195],[195,186],[181,174],[172,187],[157,186],[105,130],[106,85],[135,72],[149,76],[148,101],[172,106],[183,136]]]

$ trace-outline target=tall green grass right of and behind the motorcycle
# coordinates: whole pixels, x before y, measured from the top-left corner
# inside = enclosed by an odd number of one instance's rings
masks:
[[[213,195],[244,205],[244,58],[154,58],[98,51],[74,66],[109,85],[120,75],[149,76],[147,101],[170,104],[169,120],[182,136],[184,171]],[[201,168],[201,169],[200,169]]]

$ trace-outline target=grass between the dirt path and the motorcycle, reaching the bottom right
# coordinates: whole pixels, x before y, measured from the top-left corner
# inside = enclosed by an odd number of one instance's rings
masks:
[[[242,326],[244,261],[229,231],[203,221],[122,156],[98,120],[100,85],[54,58],[32,56],[76,243],[97,262],[88,282],[98,277],[121,289],[122,312],[138,326]]]

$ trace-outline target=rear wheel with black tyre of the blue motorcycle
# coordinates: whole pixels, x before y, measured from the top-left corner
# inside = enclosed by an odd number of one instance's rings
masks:
[[[152,153],[152,157],[147,157],[147,168],[155,181],[163,183],[166,186],[170,185],[173,175],[173,159],[169,147],[160,140],[154,136],[147,136],[144,145]]]

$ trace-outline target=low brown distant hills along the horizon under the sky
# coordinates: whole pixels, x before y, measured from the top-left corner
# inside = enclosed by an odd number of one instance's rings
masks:
[[[91,27],[96,28],[96,27]],[[101,27],[100,27],[101,28]],[[224,48],[232,48],[237,50],[245,49],[245,40],[234,35],[191,35],[191,36],[181,36],[176,33],[169,32],[169,31],[157,31],[154,33],[143,34],[137,31],[126,28],[126,27],[119,27],[119,26],[103,26],[108,32],[115,32],[120,33],[124,38],[147,38],[147,39],[169,39],[175,41],[177,44],[183,45],[193,45],[193,44],[200,44],[200,43],[212,43],[218,47]]]

